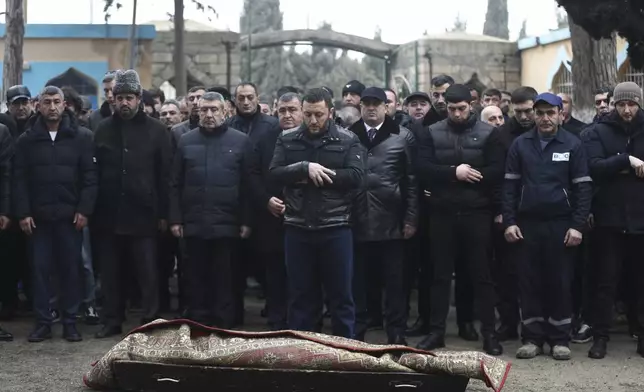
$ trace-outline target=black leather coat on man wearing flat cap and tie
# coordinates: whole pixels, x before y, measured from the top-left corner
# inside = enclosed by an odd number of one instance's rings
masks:
[[[403,227],[418,225],[418,186],[411,131],[385,118],[373,141],[363,120],[349,128],[367,150],[363,185],[355,201],[356,241],[403,239]]]

